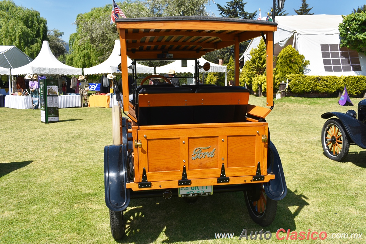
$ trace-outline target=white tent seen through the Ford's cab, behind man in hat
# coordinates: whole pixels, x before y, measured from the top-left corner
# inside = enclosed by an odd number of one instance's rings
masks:
[[[212,62],[205,60],[202,57],[198,59],[198,62],[202,66],[206,62],[208,62],[211,65],[210,69],[207,71],[204,70],[203,68],[200,68],[199,69],[200,73],[208,73],[208,72],[225,73],[225,85],[226,85],[226,83],[227,83],[227,66],[226,65],[214,64]],[[173,70],[175,70],[175,73],[193,73],[194,74],[195,73],[194,66],[195,66],[194,60],[187,60],[187,66],[185,66],[185,62],[184,62],[184,66],[182,66],[182,60],[176,60],[170,64],[156,67],[156,73],[168,73],[170,69],[173,69]]]

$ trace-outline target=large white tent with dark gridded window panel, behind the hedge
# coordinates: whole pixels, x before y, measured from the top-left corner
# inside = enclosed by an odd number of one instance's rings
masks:
[[[292,45],[310,61],[306,75],[366,75],[366,56],[340,47],[339,24],[341,15],[277,16],[274,55]],[[250,50],[256,48],[261,37],[252,39],[241,59],[251,59]]]

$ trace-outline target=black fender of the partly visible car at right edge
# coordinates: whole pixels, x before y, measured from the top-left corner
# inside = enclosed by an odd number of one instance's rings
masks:
[[[331,112],[321,115],[323,119],[329,119],[333,116],[341,121],[347,130],[348,136],[351,137],[351,140],[360,148],[366,149],[366,125],[358,119],[344,113]]]

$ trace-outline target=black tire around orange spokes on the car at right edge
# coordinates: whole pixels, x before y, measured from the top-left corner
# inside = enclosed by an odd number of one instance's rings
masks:
[[[327,141],[326,137],[329,137],[328,129],[330,126],[336,126],[339,129],[339,133],[341,134],[341,141],[342,141],[342,148],[336,155],[329,150],[329,146],[326,145],[329,142]],[[332,137],[333,138],[333,137]],[[350,150],[350,137],[348,136],[348,133],[346,131],[346,128],[344,128],[343,124],[340,122],[339,119],[328,119],[323,126],[323,129],[321,130],[321,145],[323,147],[323,151],[325,155],[332,160],[335,161],[342,161],[348,154],[348,151]],[[331,145],[330,145],[331,146]]]

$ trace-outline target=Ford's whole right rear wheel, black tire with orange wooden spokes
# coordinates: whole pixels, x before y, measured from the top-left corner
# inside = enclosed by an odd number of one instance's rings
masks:
[[[244,192],[245,203],[250,217],[261,226],[268,226],[275,220],[277,212],[277,201],[266,196],[263,184],[259,188],[258,201],[251,201],[250,192]]]

